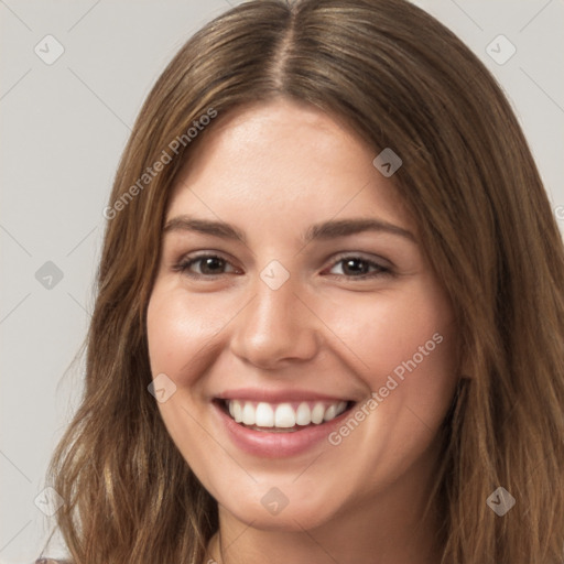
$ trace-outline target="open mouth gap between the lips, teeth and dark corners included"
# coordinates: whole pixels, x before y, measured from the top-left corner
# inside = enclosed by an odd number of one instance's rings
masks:
[[[354,405],[354,401],[257,402],[250,400],[214,400],[236,423],[267,433],[295,433],[323,425]]]

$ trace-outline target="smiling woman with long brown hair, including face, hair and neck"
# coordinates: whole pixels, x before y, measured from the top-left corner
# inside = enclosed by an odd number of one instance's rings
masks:
[[[499,87],[430,15],[219,17],[105,216],[51,468],[73,562],[564,560],[562,239]]]

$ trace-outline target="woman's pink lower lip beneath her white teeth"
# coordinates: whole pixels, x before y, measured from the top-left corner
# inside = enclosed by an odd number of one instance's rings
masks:
[[[241,451],[263,458],[295,456],[313,448],[326,440],[350,411],[347,410],[338,417],[326,423],[304,426],[300,431],[269,433],[268,431],[254,431],[239,425],[216,402],[213,402],[213,406],[219,414],[231,442]]]

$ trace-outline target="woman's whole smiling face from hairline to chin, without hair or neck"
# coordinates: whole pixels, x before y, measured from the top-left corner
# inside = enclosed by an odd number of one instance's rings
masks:
[[[312,107],[213,127],[174,187],[148,310],[174,443],[253,527],[410,499],[456,384],[451,304],[414,221],[376,154]]]

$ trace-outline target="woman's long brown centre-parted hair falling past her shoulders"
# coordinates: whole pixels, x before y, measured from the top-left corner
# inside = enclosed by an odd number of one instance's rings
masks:
[[[171,186],[214,127],[202,116],[279,96],[344,120],[375,156],[392,148],[403,161],[392,180],[462,341],[434,491],[443,563],[561,563],[562,239],[495,79],[404,0],[242,3],[193,36],[149,95],[108,207],[84,399],[50,467],[74,562],[200,564],[218,527],[216,501],[148,392],[145,308]],[[187,133],[194,121],[208,124]],[[503,517],[486,503],[499,486],[516,499]]]

